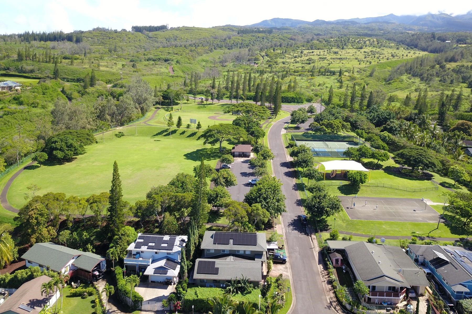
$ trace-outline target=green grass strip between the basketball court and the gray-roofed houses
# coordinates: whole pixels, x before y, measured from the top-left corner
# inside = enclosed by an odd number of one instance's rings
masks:
[[[335,219],[336,218],[336,224]],[[327,219],[329,227],[332,229],[363,233],[371,235],[397,235],[397,236],[433,236],[441,238],[459,238],[464,234],[453,233],[446,225],[424,222],[396,222],[379,220],[351,220],[343,209],[340,213]],[[458,229],[456,229],[458,230]],[[461,233],[461,232],[458,232]]]

